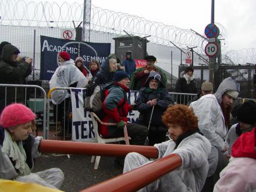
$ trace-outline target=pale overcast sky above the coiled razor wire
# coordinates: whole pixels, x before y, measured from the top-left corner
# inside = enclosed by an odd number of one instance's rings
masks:
[[[211,0],[91,0],[91,4],[201,34],[211,23]],[[215,0],[215,22],[227,30],[228,49],[256,47],[255,9],[255,0]]]

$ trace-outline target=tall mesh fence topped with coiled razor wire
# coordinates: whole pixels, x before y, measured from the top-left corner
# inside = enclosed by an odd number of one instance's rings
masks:
[[[34,2],[24,0],[2,0],[0,2],[0,41],[10,41],[19,47],[22,54],[33,56],[35,49],[34,67],[35,79],[40,79],[40,35],[49,37],[61,37],[61,30],[73,29],[75,24],[83,21],[83,4],[77,2],[62,4],[50,2]],[[220,23],[216,23],[221,31],[222,62],[227,65],[255,63],[255,49],[243,49],[241,51],[227,51],[227,31]],[[125,35],[124,30],[131,35],[147,38],[147,52],[158,58],[157,65],[168,72],[169,79],[171,68],[173,75],[178,77],[180,63],[186,55],[173,47],[172,41],[179,48],[194,49],[194,65],[204,63],[207,65],[207,56],[204,47],[207,44],[205,38],[197,35],[193,30],[180,29],[159,22],[152,22],[143,17],[129,15],[127,13],[114,12],[91,5],[90,42],[111,42],[113,53],[114,41],[112,38]],[[197,31],[198,32],[198,31]],[[200,33],[199,31],[198,33]],[[172,52],[172,61],[170,53]],[[201,58],[204,58],[203,60]],[[172,65],[171,65],[172,64]]]

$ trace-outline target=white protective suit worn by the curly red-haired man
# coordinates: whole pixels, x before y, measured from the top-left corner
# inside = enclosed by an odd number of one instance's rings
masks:
[[[209,168],[207,158],[211,151],[211,144],[201,134],[194,133],[184,138],[176,150],[174,150],[175,146],[176,143],[173,140],[154,145],[158,149],[158,158],[170,154],[179,155],[182,158],[180,168],[162,176],[139,191],[201,191],[207,178]],[[143,155],[131,152],[125,158],[123,173],[150,162],[152,161]]]

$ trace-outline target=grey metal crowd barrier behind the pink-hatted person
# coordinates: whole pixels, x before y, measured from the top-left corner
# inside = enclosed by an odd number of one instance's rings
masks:
[[[34,113],[42,112],[42,119],[40,120],[40,122],[42,123],[43,137],[47,138],[47,130],[49,129],[49,127],[47,127],[47,121],[46,121],[46,119],[47,119],[47,112],[46,112],[47,111],[47,95],[45,93],[45,90],[40,86],[25,85],[25,84],[0,84],[0,88],[2,88],[2,87],[5,89],[5,96],[4,96],[5,106],[7,105],[8,96],[10,96],[7,94],[8,88],[11,88],[11,87],[15,88],[15,99],[14,99],[14,101],[11,101],[11,102],[17,101],[16,100],[17,94],[20,94],[20,93],[17,93],[17,88],[23,87],[25,89],[23,104],[29,105],[29,108]],[[29,99],[27,99],[27,89],[28,88],[34,88],[34,97],[33,98],[30,97]],[[39,98],[37,98],[37,89],[39,89],[42,94],[42,96]],[[30,99],[32,99],[32,100],[30,100]],[[36,121],[39,122],[39,119],[36,119]]]

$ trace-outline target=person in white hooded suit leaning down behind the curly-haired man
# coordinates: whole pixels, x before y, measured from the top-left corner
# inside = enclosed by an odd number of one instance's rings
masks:
[[[236,80],[228,77],[219,84],[218,90],[214,95],[204,95],[190,104],[190,107],[193,108],[195,115],[198,117],[198,128],[212,144],[211,154],[208,159],[208,177],[211,177],[211,179],[215,177],[214,182],[218,180],[219,172],[228,163],[226,156],[223,154],[227,150],[224,140],[230,122],[233,99],[238,97],[239,91],[239,84]]]

